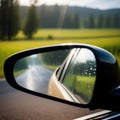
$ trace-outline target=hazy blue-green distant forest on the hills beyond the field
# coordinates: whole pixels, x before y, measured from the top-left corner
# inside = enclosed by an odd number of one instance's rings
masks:
[[[120,28],[120,9],[100,10],[58,5],[42,5],[36,9],[40,28]],[[25,18],[27,7],[20,7],[20,13]]]

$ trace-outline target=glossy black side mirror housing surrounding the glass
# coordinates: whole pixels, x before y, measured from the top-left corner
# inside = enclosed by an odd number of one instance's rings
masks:
[[[73,103],[66,100],[61,100],[55,97],[51,97],[45,94],[41,94],[32,90],[26,89],[24,87],[21,87],[15,81],[14,74],[13,74],[14,66],[16,62],[21,58],[38,54],[38,53],[45,53],[48,51],[50,52],[50,51],[73,49],[73,48],[80,48],[80,49],[87,48],[93,52],[96,58],[96,64],[97,64],[96,82],[95,82],[92,99],[88,104]],[[99,47],[95,47],[87,44],[62,44],[62,45],[47,46],[47,47],[35,48],[35,49],[23,51],[23,52],[12,55],[5,61],[4,73],[5,73],[6,80],[12,87],[32,95],[36,95],[36,96],[48,98],[51,100],[63,102],[66,104],[84,107],[84,108],[90,108],[90,109],[101,108],[101,109],[120,111],[120,108],[118,106],[120,101],[119,65],[111,53]]]

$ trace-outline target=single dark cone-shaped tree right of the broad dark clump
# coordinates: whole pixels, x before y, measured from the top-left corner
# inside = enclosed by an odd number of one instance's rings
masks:
[[[23,26],[23,32],[29,39],[31,39],[33,34],[37,31],[38,26],[39,24],[36,7],[32,4],[28,8],[27,17],[25,18]]]

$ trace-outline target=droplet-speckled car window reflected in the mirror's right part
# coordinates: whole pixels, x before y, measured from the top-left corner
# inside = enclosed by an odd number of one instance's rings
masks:
[[[96,61],[94,54],[88,49],[76,51],[64,75],[63,85],[80,102],[88,103],[93,94],[95,79]]]

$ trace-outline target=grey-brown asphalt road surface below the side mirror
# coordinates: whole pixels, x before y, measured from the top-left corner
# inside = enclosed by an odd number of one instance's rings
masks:
[[[91,112],[94,111],[20,92],[6,80],[0,81],[0,120],[72,120]]]

